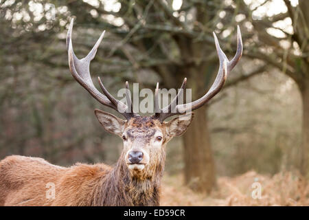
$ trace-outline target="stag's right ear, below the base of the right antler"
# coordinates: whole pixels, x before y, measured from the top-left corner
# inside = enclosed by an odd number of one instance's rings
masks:
[[[187,113],[185,115],[179,115],[178,117],[165,122],[168,135],[170,137],[180,136],[187,130],[193,119],[193,112]]]

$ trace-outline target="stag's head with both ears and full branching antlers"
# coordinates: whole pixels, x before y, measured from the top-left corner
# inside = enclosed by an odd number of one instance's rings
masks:
[[[122,113],[124,118],[126,118],[126,120],[122,120],[111,113],[95,109],[95,115],[104,129],[122,138],[124,142],[124,151],[121,159],[124,160],[128,170],[130,170],[130,174],[135,177],[152,177],[158,170],[163,169],[165,144],[170,141],[172,137],[180,136],[186,131],[187,127],[192,122],[192,111],[203,106],[203,104],[207,103],[220,91],[225,83],[227,75],[242,56],[242,39],[239,27],[237,52],[231,61],[227,59],[227,56],[225,56],[224,52],[220,49],[218,39],[216,34],[214,34],[220,67],[216,80],[209,91],[194,102],[180,104],[179,98],[183,95],[183,90],[187,82],[185,78],[181,85],[181,89],[179,89],[179,93],[174,97],[168,107],[160,109],[158,104],[158,83],[155,90],[155,114],[151,116],[140,116],[137,113],[133,113],[133,104],[130,98],[128,82],[126,82],[126,104],[111,96],[100,78],[98,78],[98,81],[103,94],[93,85],[89,72],[89,65],[98,50],[104,32],[93,46],[91,52],[84,58],[78,59],[73,52],[71,41],[72,28],[73,19],[67,33],[67,49],[71,74],[82,87],[89,91],[93,98],[98,100],[101,104]],[[164,121],[172,115],[178,116],[169,122]]]

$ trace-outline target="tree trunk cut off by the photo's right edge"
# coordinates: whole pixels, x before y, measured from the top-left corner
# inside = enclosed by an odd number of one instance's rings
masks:
[[[309,164],[309,80],[306,80],[302,85],[301,99],[303,104],[303,130],[302,130],[302,142],[300,151],[300,170],[301,174],[308,176],[308,164]]]

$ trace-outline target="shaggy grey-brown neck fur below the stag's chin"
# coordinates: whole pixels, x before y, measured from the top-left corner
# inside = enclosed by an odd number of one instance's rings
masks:
[[[159,206],[164,159],[152,175],[131,177],[123,158],[94,188],[93,206]]]

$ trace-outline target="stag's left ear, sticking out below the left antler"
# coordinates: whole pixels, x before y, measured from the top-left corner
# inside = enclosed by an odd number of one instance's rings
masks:
[[[115,135],[121,136],[124,132],[124,124],[126,121],[99,109],[95,109],[95,116],[97,116],[100,124],[102,124],[104,129],[109,133],[115,133]]]

